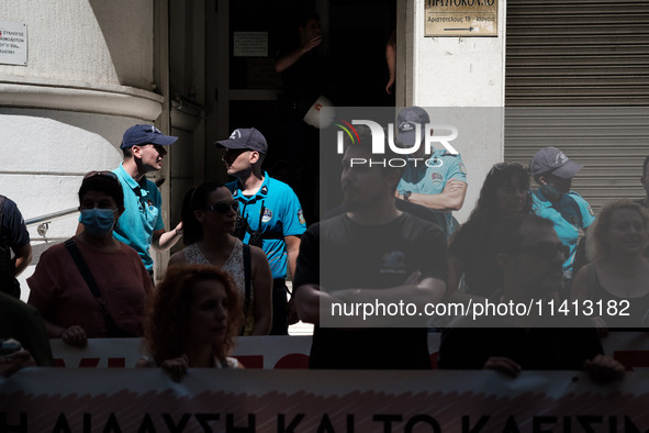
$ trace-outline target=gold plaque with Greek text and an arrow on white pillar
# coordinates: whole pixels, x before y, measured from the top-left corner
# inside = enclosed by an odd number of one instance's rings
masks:
[[[426,0],[425,36],[497,36],[497,0]]]

